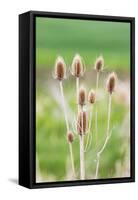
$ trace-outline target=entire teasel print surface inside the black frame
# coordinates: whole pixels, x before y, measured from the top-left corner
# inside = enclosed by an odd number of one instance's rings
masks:
[[[130,23],[35,23],[36,183],[130,177]]]

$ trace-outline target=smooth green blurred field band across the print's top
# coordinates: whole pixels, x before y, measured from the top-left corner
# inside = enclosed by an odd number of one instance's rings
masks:
[[[51,68],[58,55],[70,65],[78,52],[88,67],[102,54],[106,67],[129,69],[130,24],[37,18],[36,47],[36,62],[42,68]]]

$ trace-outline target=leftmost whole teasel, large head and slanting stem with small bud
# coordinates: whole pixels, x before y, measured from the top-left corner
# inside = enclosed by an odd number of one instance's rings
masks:
[[[63,90],[63,80],[66,78],[66,64],[62,57],[58,57],[56,59],[55,78],[59,81],[59,87],[60,87],[60,93],[61,93],[61,98],[62,98],[62,105],[63,105],[63,111],[64,111],[64,117],[65,117],[65,122],[66,122],[66,129],[67,129],[67,138],[68,138],[67,141],[69,144],[72,171],[75,177],[74,157],[73,157],[73,150],[72,150],[73,134],[71,133],[70,128],[69,128],[67,110],[65,106],[65,96],[64,96],[64,90]]]

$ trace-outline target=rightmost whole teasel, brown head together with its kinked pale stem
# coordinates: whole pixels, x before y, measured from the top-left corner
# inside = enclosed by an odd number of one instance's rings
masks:
[[[108,116],[107,116],[106,139],[105,139],[105,142],[104,142],[102,148],[97,153],[97,164],[96,164],[96,174],[95,174],[96,179],[98,178],[101,154],[103,153],[103,151],[108,143],[108,140],[110,139],[110,136],[111,136],[111,134],[110,134],[111,103],[112,103],[112,94],[115,91],[115,87],[116,87],[116,80],[117,80],[117,76],[114,72],[109,74],[108,79],[107,79],[107,85],[106,85],[107,92],[108,92]]]

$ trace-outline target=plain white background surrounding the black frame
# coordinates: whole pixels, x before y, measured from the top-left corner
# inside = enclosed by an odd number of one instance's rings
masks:
[[[18,14],[28,10],[136,17],[137,0],[3,0],[0,3],[0,199],[131,199],[138,183],[28,190],[18,175]],[[137,42],[137,38],[136,38]],[[138,50],[138,43],[136,45]],[[137,58],[137,51],[136,51]],[[137,64],[137,63],[136,63]],[[136,74],[138,73],[136,68]],[[136,85],[138,78],[136,76]],[[138,92],[138,91],[137,91]],[[138,93],[136,92],[136,102]],[[138,104],[137,104],[138,105]],[[136,109],[137,109],[136,105]],[[137,114],[137,113],[136,113]],[[137,124],[136,124],[137,130]],[[137,131],[136,131],[137,132]],[[136,133],[137,134],[137,133]],[[137,137],[136,137],[137,138]],[[138,141],[136,141],[138,146]],[[138,150],[138,148],[136,148]],[[136,150],[136,151],[137,151]],[[3,197],[2,197],[3,196]],[[134,198],[136,199],[136,198]]]

